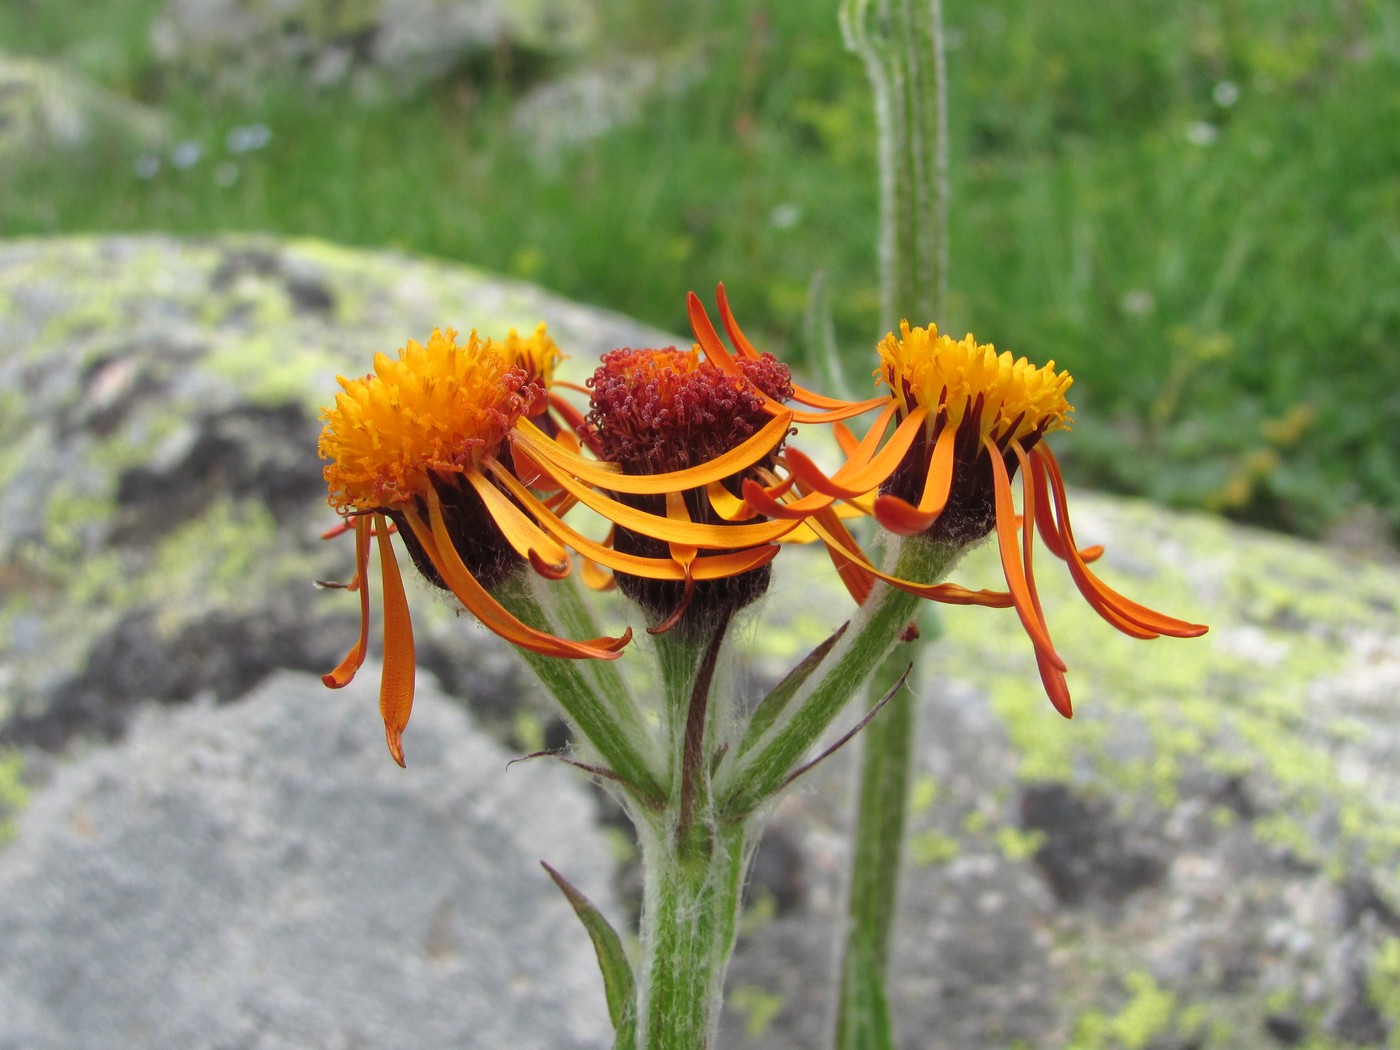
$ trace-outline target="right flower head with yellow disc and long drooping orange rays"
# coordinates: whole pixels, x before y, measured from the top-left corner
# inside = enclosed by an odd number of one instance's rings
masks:
[[[720,293],[720,311],[739,358],[752,347]],[[704,311],[692,297],[692,321],[710,360],[728,357]],[[802,521],[832,552],[851,594],[865,601],[875,580],[911,594],[955,605],[1015,608],[1035,648],[1051,703],[1072,711],[1065,665],[1056,652],[1036,591],[1035,535],[1065,561],[1085,601],[1110,624],[1137,638],[1196,637],[1203,624],[1148,609],[1099,580],[1089,568],[1102,549],[1079,550],[1070,524],[1068,496],[1060,465],[1042,438],[1068,427],[1067,372],[998,354],[972,336],[955,342],[937,328],[900,325],[879,344],[875,375],[888,395],[868,402],[839,402],[795,388],[812,412],[798,423],[832,423],[844,462],[820,470],[797,448],[781,456],[783,477],[760,484],[746,480],[743,505],[771,518]],[[728,358],[728,367],[738,361]],[[721,364],[720,367],[725,367]],[[861,412],[879,414],[864,437],[844,423]],[[1012,479],[1021,473],[1022,508],[1016,512]],[[970,591],[956,584],[900,580],[879,571],[841,522],[846,512],[869,510],[889,532],[907,542],[938,543],[949,561],[991,532],[997,535],[1005,591]]]

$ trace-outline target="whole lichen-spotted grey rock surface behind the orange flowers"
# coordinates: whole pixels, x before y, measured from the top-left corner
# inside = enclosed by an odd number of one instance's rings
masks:
[[[353,599],[309,582],[350,571],[347,545],[319,539],[335,375],[434,325],[539,321],[575,377],[613,346],[673,342],[389,253],[0,242],[17,511],[0,533],[0,1047],[608,1046],[587,938],[536,861],[619,924],[629,869],[580,774],[505,771],[557,731],[512,654],[420,589],[407,773],[384,753],[372,671],[340,696],[305,673],[356,627]],[[1046,560],[1065,722],[1014,615],[942,612],[920,669],[900,1046],[1394,1046],[1400,573],[1135,503],[1074,510],[1107,580],[1212,630],[1123,638]],[[802,557],[784,552],[741,629],[756,679],[844,617]],[[955,578],[991,585],[990,552]],[[724,1047],[825,1042],[848,762],[774,812]]]

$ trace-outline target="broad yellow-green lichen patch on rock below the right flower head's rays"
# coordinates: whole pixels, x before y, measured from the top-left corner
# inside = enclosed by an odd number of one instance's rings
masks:
[[[1400,802],[1375,790],[1375,777],[1389,776],[1368,739],[1375,711],[1330,701],[1338,690],[1345,699],[1348,669],[1376,648],[1366,638],[1400,629],[1400,575],[1371,566],[1357,577],[1327,552],[1207,518],[1074,498],[1089,511],[1081,542],[1109,545],[1096,567],[1105,580],[1211,633],[1123,637],[1063,566],[1039,559],[1050,631],[1070,668],[1075,717],[1065,722],[1042,693],[1014,616],[949,610],[938,662],[990,692],[1019,778],[1099,784],[1170,808],[1191,770],[1245,776],[1266,809],[1256,830],[1270,844],[1296,847],[1329,871],[1358,857],[1400,868]],[[995,553],[983,549],[955,578],[986,587],[997,573]],[[1357,585],[1337,587],[1354,577]],[[1340,834],[1319,836],[1323,816]]]

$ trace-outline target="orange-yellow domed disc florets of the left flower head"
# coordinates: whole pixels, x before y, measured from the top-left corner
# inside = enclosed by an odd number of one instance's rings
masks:
[[[409,340],[398,360],[375,354],[371,375],[339,381],[318,451],[330,461],[330,505],[346,512],[392,508],[424,496],[433,475],[479,469],[538,393],[500,347],[476,332],[458,346],[452,329],[435,329],[427,346]]]

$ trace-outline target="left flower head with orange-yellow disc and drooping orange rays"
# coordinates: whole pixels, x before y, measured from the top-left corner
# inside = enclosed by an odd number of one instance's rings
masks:
[[[398,358],[377,354],[375,371],[340,378],[322,413],[319,452],[330,505],[353,519],[360,638],[326,685],[347,685],[364,662],[370,619],[370,539],[378,540],[384,585],[385,658],[379,707],[389,752],[402,764],[402,734],[413,706],[413,629],[391,532],[435,585],[451,591],[501,637],[553,657],[612,658],[622,638],[570,641],[521,623],[490,589],[528,563],[546,577],[570,570],[564,528],[531,489],[554,487],[531,448],[550,444],[529,419],[547,409],[553,343],[543,330],[504,347],[475,332],[465,346],[451,329],[427,346],[409,342]],[[515,451],[519,449],[519,456]],[[525,480],[519,475],[525,475]],[[392,528],[391,528],[392,522]]]

